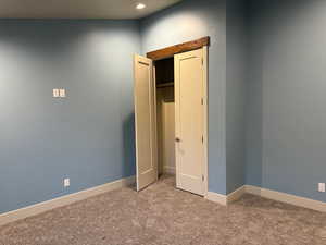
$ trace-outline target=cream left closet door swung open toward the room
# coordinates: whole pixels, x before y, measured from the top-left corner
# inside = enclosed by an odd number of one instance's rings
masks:
[[[158,180],[155,85],[150,59],[135,56],[135,127],[137,191]]]

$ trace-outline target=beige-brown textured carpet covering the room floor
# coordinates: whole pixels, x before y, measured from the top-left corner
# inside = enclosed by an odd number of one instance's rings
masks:
[[[165,176],[1,226],[0,244],[326,245],[326,213],[252,195],[226,208]]]

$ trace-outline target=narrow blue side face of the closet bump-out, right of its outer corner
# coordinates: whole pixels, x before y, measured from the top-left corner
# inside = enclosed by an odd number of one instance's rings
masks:
[[[244,185],[247,4],[226,2],[226,193]]]

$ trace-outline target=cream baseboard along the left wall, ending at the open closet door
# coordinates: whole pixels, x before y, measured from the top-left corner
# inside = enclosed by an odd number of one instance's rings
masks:
[[[133,185],[135,183],[135,180],[136,180],[135,176],[121,179],[78,193],[73,193],[51,200],[32,205],[22,209],[2,213],[0,215],[0,226],[16,220],[25,219],[27,217],[32,217],[45,211],[49,211],[53,208],[66,206],[76,203],[78,200],[86,199],[88,197],[92,197],[102,193],[114,191],[124,186]]]

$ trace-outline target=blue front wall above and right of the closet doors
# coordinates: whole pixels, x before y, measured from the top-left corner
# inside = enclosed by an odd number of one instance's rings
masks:
[[[140,22],[142,53],[211,36],[209,50],[209,189],[226,194],[225,0],[184,0]]]

